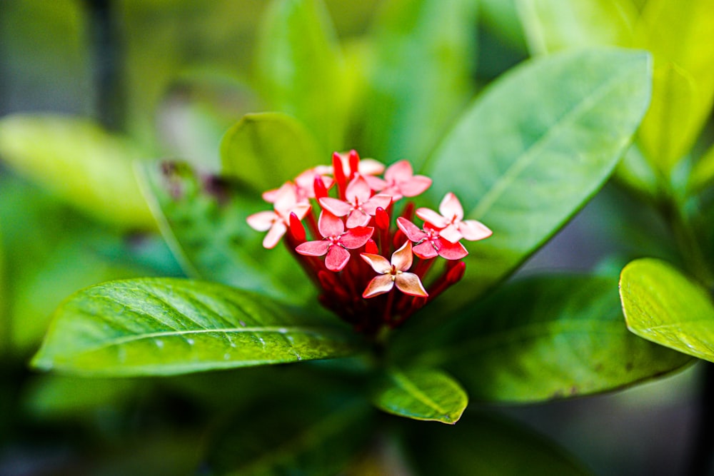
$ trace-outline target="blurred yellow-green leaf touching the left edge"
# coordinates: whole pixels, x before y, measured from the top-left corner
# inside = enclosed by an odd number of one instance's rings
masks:
[[[81,210],[126,228],[154,229],[131,166],[141,153],[91,121],[15,114],[0,120],[0,156]]]

